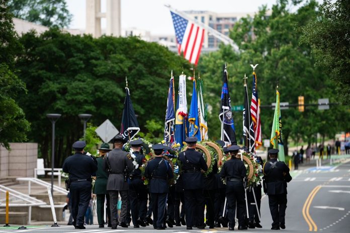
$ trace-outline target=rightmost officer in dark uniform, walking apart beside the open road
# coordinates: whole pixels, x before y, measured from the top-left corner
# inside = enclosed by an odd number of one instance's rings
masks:
[[[280,227],[285,229],[287,181],[289,182],[291,180],[291,176],[287,165],[282,161],[277,161],[279,150],[270,149],[268,152],[271,160],[264,164],[263,171],[267,182],[267,194],[269,196],[269,206],[273,220],[271,229],[279,230]]]

